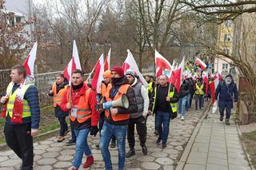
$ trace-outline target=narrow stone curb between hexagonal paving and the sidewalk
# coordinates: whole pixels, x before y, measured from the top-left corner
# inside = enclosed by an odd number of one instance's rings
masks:
[[[182,170],[186,164],[186,160],[188,158],[188,156],[190,155],[190,150],[192,148],[192,145],[194,144],[194,140],[196,138],[196,136],[198,135],[198,131],[199,128],[202,125],[202,121],[206,118],[206,116],[208,115],[209,109],[210,109],[210,104],[207,106],[206,110],[204,110],[203,116],[201,117],[201,119],[198,121],[198,124],[196,125],[196,127],[194,128],[194,132],[192,133],[192,135],[190,136],[190,140],[189,142],[186,144],[186,148],[184,150],[184,152],[182,153],[182,157],[181,159],[178,161],[178,165],[175,168],[175,170]]]

